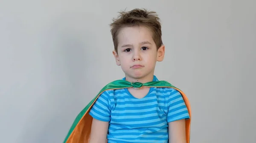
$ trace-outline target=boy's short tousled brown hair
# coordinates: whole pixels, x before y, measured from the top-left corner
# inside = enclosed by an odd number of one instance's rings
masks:
[[[121,11],[119,14],[120,15],[116,19],[113,18],[113,23],[110,24],[113,44],[116,52],[118,45],[117,36],[120,29],[124,27],[140,25],[146,26],[152,31],[152,38],[157,45],[157,50],[161,45],[163,45],[160,18],[156,12],[136,8],[128,12]]]

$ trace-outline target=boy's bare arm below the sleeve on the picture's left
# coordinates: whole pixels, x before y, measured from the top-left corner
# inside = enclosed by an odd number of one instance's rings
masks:
[[[93,118],[90,143],[107,143],[108,122]]]

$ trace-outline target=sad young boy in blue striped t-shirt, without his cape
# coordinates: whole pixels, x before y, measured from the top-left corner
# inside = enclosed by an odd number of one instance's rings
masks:
[[[158,81],[156,62],[165,46],[154,11],[121,12],[111,24],[113,55],[131,83]],[[186,143],[188,109],[172,88],[141,87],[103,92],[89,114],[93,117],[90,143]]]

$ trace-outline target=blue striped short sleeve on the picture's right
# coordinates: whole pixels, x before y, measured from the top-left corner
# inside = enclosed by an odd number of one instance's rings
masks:
[[[172,89],[168,98],[167,122],[181,119],[189,119],[189,112],[180,92]]]

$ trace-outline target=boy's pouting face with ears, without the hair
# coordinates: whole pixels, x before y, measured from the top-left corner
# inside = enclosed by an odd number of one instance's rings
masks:
[[[142,79],[154,75],[157,61],[162,61],[164,46],[158,50],[151,31],[145,26],[122,28],[118,35],[116,64],[121,66],[128,79]]]

